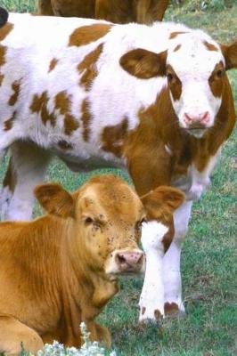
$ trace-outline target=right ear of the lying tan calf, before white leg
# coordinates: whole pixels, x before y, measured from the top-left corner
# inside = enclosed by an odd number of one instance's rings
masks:
[[[184,193],[176,188],[160,186],[144,195],[141,200],[148,220],[168,223],[177,207],[184,203]]]

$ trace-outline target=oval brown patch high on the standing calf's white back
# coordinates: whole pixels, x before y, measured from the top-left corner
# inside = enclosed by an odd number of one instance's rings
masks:
[[[107,35],[111,26],[103,23],[95,23],[90,26],[81,26],[69,36],[69,45],[85,45],[95,42]]]

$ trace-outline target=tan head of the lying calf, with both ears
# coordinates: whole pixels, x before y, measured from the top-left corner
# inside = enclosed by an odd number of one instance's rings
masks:
[[[143,223],[167,219],[184,201],[180,190],[169,187],[140,199],[114,175],[94,177],[72,195],[55,183],[37,187],[35,194],[49,214],[73,225],[69,243],[78,263],[83,261],[88,271],[105,272],[110,279],[143,271],[143,251],[138,247]]]

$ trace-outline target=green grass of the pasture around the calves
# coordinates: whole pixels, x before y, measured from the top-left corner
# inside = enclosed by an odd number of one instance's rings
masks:
[[[34,1],[0,0],[14,11],[34,8]],[[190,12],[188,6],[171,6],[167,20],[204,28],[220,42],[228,43],[237,34],[237,4],[215,12]],[[229,77],[237,106],[237,70]],[[184,320],[164,320],[163,328],[139,326],[137,303],[142,279],[121,281],[121,292],[100,316],[110,328],[113,347],[122,356],[230,356],[237,354],[236,312],[236,130],[225,144],[212,187],[193,207],[192,222],[182,255]],[[6,160],[0,170],[3,178]],[[111,170],[99,171],[100,174]],[[123,175],[117,170],[116,174]],[[94,173],[92,173],[94,174]],[[54,160],[47,180],[61,182],[75,190],[91,174],[73,174]],[[127,178],[127,176],[126,176]],[[37,208],[36,214],[39,214]]]

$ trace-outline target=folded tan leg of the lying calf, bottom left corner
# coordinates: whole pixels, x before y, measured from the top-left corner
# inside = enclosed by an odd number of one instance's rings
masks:
[[[21,345],[27,352],[37,353],[44,344],[37,332],[10,315],[0,315],[0,352],[19,355]]]

